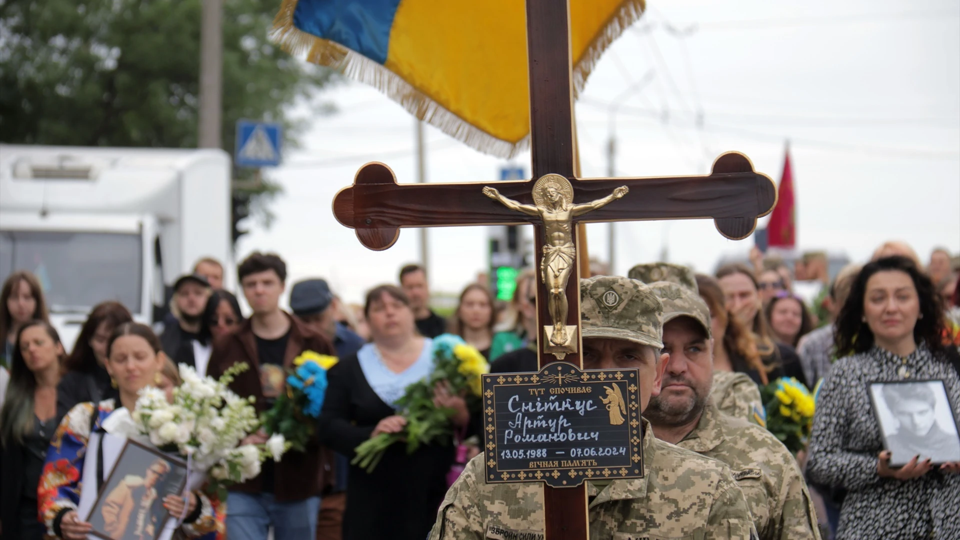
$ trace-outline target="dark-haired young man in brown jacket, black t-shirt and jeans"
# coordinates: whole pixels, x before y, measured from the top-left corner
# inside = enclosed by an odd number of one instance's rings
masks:
[[[250,370],[236,376],[230,389],[241,397],[255,398],[263,411],[285,391],[286,370],[304,351],[336,355],[319,333],[279,307],[286,280],[286,264],[273,254],[253,253],[237,268],[240,285],[253,314],[236,331],[218,339],[210,356],[208,373],[219,377],[236,362]],[[243,443],[267,440],[257,432]],[[313,540],[317,528],[320,493],[327,480],[322,471],[324,452],[316,438],[306,452],[290,451],[283,459],[267,459],[255,479],[231,486],[227,501],[227,534],[230,540]]]

